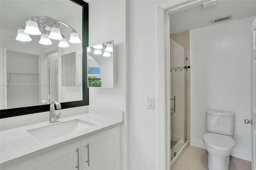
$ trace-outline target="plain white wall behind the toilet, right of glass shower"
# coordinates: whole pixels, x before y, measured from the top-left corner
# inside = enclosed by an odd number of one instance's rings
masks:
[[[238,158],[250,160],[250,24],[255,17],[190,31],[191,145],[204,147],[206,109],[235,112]]]

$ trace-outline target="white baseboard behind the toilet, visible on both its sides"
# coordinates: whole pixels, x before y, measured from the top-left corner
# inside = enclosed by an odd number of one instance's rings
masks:
[[[190,140],[190,145],[191,146],[196,146],[198,148],[205,149],[203,141],[200,141],[200,140],[191,139]],[[243,160],[252,161],[251,154],[244,153],[244,152],[238,151],[236,149],[233,150],[233,152],[230,154],[230,156],[234,156],[236,158],[240,158],[240,159],[243,159]]]

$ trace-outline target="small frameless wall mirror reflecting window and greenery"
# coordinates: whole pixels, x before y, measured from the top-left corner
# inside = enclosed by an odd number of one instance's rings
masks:
[[[87,47],[88,87],[114,88],[114,41]]]

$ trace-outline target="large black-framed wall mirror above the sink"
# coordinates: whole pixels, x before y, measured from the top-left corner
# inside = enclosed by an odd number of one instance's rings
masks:
[[[0,0],[0,47],[1,119],[89,104],[83,0]]]

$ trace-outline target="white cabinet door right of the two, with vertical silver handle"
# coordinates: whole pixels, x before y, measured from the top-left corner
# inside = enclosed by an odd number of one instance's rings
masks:
[[[120,170],[119,127],[81,140],[82,170]]]

